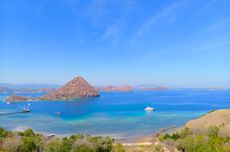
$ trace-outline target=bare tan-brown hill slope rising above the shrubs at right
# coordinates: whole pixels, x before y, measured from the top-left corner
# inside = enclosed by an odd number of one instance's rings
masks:
[[[198,119],[187,122],[185,126],[194,131],[205,131],[210,126],[217,126],[222,133],[230,135],[230,109],[210,112]]]

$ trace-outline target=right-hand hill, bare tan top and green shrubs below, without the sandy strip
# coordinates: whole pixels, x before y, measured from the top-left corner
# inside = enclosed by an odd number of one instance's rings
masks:
[[[172,134],[158,137],[169,151],[230,152],[230,109],[211,111]]]

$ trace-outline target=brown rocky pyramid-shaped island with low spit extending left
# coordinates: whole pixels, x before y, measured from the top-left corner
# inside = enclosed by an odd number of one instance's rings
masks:
[[[69,100],[84,97],[98,97],[99,93],[83,77],[78,76],[66,83],[63,87],[50,92],[40,98],[30,98],[11,95],[6,100],[9,102],[28,100]]]

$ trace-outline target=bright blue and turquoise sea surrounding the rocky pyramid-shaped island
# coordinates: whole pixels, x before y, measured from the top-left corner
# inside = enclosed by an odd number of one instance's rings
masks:
[[[180,127],[213,109],[230,108],[230,90],[101,92],[97,98],[11,104],[4,101],[7,96],[0,94],[0,113],[21,111],[28,103],[31,113],[0,115],[1,127],[59,135],[108,135],[120,141],[143,137],[163,127]],[[156,110],[145,112],[146,106]]]

